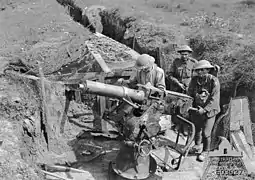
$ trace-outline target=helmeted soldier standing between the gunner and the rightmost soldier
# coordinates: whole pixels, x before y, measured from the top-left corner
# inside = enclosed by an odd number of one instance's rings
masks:
[[[192,77],[192,68],[197,60],[190,57],[193,50],[188,45],[182,45],[177,50],[180,57],[173,61],[167,75],[170,81],[170,90],[186,93]]]

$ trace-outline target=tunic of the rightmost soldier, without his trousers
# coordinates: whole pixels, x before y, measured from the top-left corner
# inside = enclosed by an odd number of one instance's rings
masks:
[[[206,90],[208,97],[203,104],[197,98]],[[204,82],[199,82],[198,76],[192,78],[188,87],[188,95],[194,98],[194,107],[198,105],[207,111],[208,118],[216,116],[220,112],[220,83],[217,77],[208,74]]]

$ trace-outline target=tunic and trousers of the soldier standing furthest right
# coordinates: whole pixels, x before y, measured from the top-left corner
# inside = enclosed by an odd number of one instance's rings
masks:
[[[195,76],[188,87],[188,95],[194,98],[193,107],[202,107],[203,115],[191,112],[191,121],[195,124],[195,144],[203,141],[203,151],[210,151],[211,132],[215,117],[220,112],[220,83],[217,77],[207,74],[203,82]]]

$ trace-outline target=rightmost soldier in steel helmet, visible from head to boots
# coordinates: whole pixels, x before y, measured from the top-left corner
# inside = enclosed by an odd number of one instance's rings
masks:
[[[193,68],[196,76],[188,87],[188,95],[194,98],[194,109],[189,112],[196,128],[193,149],[198,153],[198,161],[204,161],[210,151],[212,128],[220,112],[220,83],[217,77],[209,74],[214,68],[207,60],[197,62]]]

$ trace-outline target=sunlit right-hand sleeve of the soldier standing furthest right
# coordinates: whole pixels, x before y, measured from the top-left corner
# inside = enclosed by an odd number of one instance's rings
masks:
[[[213,117],[220,111],[220,82],[218,78],[213,79],[212,93],[208,97],[204,110],[207,111],[208,117]]]

